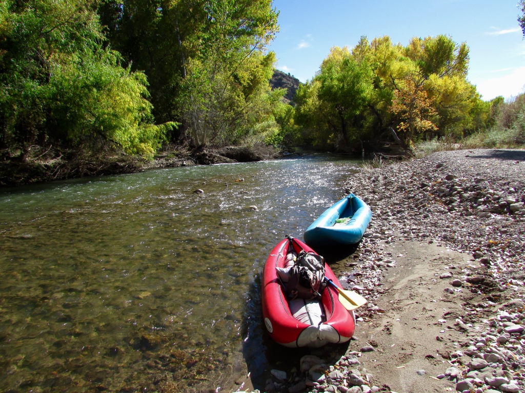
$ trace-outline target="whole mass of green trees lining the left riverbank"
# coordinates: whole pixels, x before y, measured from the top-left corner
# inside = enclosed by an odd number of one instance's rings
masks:
[[[268,84],[277,15],[271,0],[3,0],[0,181],[264,142],[286,106]]]

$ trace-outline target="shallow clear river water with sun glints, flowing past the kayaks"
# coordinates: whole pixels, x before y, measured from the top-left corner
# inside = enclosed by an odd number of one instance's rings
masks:
[[[246,369],[256,380],[275,351],[262,265],[357,170],[313,155],[2,190],[0,390],[215,391]]]

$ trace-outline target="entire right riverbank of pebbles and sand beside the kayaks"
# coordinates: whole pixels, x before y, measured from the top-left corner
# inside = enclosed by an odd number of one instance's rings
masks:
[[[315,352],[326,373],[298,364],[264,391],[523,391],[524,179],[525,151],[497,149],[352,176],[345,192],[373,211],[358,250],[335,264],[369,300],[354,340],[344,355]]]

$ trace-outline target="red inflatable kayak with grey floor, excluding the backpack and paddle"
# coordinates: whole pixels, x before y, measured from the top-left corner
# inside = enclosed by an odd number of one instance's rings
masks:
[[[296,238],[284,239],[271,251],[262,271],[262,316],[270,337],[287,347],[320,347],[350,340],[354,314],[339,302],[336,289],[324,288],[321,300],[288,300],[277,268],[293,263],[293,256],[301,250],[313,251]],[[341,288],[328,265],[324,275]]]

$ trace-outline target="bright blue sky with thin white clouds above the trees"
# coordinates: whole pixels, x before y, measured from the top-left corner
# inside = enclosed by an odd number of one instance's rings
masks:
[[[449,35],[470,48],[468,80],[482,99],[525,92],[525,41],[518,0],[274,0],[280,31],[271,43],[276,68],[312,79],[333,46],[384,35],[406,46]]]

